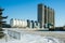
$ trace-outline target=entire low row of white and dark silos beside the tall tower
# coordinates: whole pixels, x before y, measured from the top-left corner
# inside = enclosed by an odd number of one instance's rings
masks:
[[[40,28],[40,24],[34,20],[23,20],[23,19],[11,19],[10,25],[13,28]]]

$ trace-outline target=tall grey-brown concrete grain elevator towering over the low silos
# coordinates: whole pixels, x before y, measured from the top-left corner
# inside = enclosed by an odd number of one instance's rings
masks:
[[[40,28],[54,29],[54,10],[40,3],[38,4],[38,22]]]

